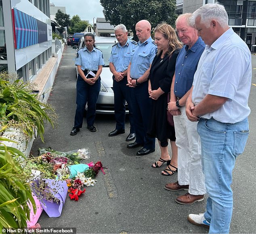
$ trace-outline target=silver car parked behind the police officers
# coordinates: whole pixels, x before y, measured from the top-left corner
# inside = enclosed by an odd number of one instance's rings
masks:
[[[102,73],[101,73],[101,90],[96,103],[96,113],[97,114],[114,114],[114,92],[113,92],[113,74],[109,70],[109,58],[112,50],[113,44],[117,42],[116,38],[107,37],[95,37],[95,46],[99,48],[103,53],[104,63]],[[78,46],[73,46],[77,51],[83,48],[84,38],[80,39]],[[76,67],[76,77],[78,75]],[[86,106],[87,109],[87,106]],[[126,113],[128,113],[128,108],[126,104]]]

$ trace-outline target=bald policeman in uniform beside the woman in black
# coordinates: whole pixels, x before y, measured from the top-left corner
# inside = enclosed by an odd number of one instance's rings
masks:
[[[147,136],[148,120],[151,110],[151,98],[148,91],[148,76],[151,63],[157,52],[150,33],[151,25],[147,20],[139,21],[136,26],[136,35],[139,42],[131,56],[131,63],[127,71],[128,86],[132,89],[132,108],[136,132],[135,142],[127,148],[143,146],[136,155],[147,155],[155,151],[155,138]]]

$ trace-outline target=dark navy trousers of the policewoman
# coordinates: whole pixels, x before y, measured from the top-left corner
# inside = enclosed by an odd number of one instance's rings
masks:
[[[80,75],[76,81],[76,115],[74,127],[81,128],[84,119],[84,109],[87,103],[86,121],[88,126],[93,126],[96,112],[96,102],[101,88],[101,78],[93,85],[87,84]]]

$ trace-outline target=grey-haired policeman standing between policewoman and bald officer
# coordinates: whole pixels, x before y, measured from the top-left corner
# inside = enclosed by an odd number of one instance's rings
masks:
[[[109,59],[109,69],[113,73],[113,91],[115,100],[115,130],[109,136],[117,136],[125,132],[125,100],[129,109],[130,134],[126,141],[135,139],[134,119],[132,115],[131,89],[127,85],[127,68],[130,64],[131,53],[137,42],[128,39],[125,25],[114,27],[115,37],[118,43],[113,45]]]

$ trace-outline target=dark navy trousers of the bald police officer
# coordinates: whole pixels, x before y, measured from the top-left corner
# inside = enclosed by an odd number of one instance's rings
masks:
[[[136,133],[135,142],[144,144],[146,149],[155,148],[155,138],[147,136],[147,128],[151,115],[151,102],[148,90],[149,82],[145,81],[132,89],[132,108],[134,117],[134,126]]]

